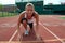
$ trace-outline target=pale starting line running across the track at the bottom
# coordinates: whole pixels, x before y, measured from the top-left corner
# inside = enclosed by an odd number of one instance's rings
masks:
[[[65,40],[65,39],[61,39],[61,40]],[[50,40],[43,40],[43,41],[22,41],[22,42],[54,42],[54,41],[58,41],[57,39],[50,39]],[[0,41],[0,43],[9,43],[9,41]],[[18,43],[21,41],[11,41],[11,43]]]

